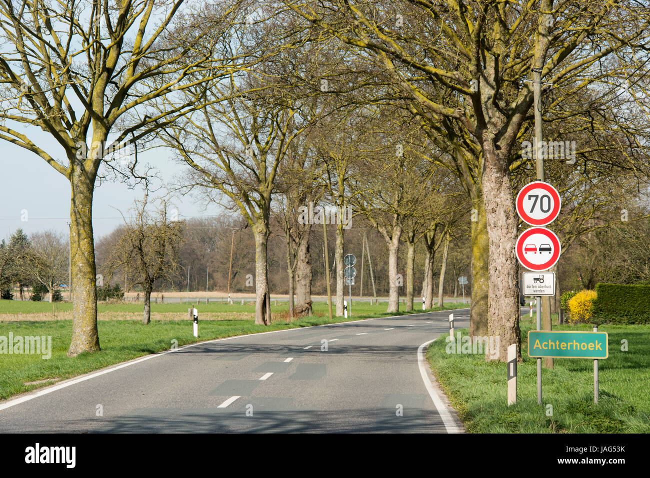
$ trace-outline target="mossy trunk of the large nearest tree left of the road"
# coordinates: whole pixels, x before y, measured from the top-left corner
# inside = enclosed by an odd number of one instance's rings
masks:
[[[72,341],[68,355],[99,351],[95,245],[92,235],[92,196],[96,171],[76,158],[70,176],[70,249],[72,251]]]

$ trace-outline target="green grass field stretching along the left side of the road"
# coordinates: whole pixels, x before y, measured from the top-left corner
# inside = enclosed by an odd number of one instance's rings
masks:
[[[148,325],[143,325],[140,321],[142,304],[99,304],[98,330],[101,352],[86,353],[71,358],[66,353],[70,346],[72,320],[60,319],[60,316],[66,312],[66,308],[67,313],[72,314],[72,304],[55,304],[55,307],[60,307],[57,320],[51,318],[34,320],[34,318],[48,314],[48,307],[51,311],[53,305],[26,301],[0,301],[0,314],[2,314],[0,317],[3,318],[0,321],[0,336],[8,337],[10,333],[14,337],[51,336],[52,341],[50,359],[42,359],[41,355],[32,354],[3,353],[0,355],[0,399],[6,399],[39,386],[118,364],[125,360],[170,349],[174,340],[180,347],[200,340],[349,320],[335,317],[330,321],[327,304],[315,303],[313,316],[287,321],[284,317],[286,314],[283,312],[286,312],[288,305],[278,303],[277,307],[272,307],[272,310],[277,311],[276,318],[272,320],[269,327],[265,327],[264,325],[255,325],[253,320],[254,305],[201,304],[198,307],[199,338],[197,339],[192,335],[192,322],[187,318],[188,306],[185,304],[152,304],[153,320]],[[386,307],[385,303],[380,305],[353,304],[354,316],[352,319],[394,316],[395,314],[385,312]],[[445,304],[445,307],[454,308],[454,305]],[[421,310],[414,312],[421,312]],[[159,317],[158,320],[155,319],[156,314]],[[136,320],[128,319],[129,316],[135,316]],[[212,319],[205,320],[207,316],[212,316]],[[233,320],[233,316],[236,317],[235,320]],[[29,320],[30,317],[31,320]],[[115,317],[122,317],[122,319],[115,320]],[[171,320],[160,319],[160,317],[168,317]],[[16,320],[12,320],[12,318]],[[47,379],[52,380],[43,382]]]

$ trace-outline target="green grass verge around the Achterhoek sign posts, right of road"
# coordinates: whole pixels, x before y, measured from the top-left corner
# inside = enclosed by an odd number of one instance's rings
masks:
[[[599,403],[593,403],[593,360],[554,359],[542,369],[543,405],[537,404],[536,359],[528,357],[530,320],[521,323],[517,403],[506,405],[506,364],[483,355],[445,351],[445,336],[428,349],[435,376],[471,433],[650,433],[650,326],[601,325],[609,336],[609,358],[599,360]],[[555,330],[591,331],[588,325]],[[467,330],[462,331],[463,335]],[[621,351],[627,340],[628,351]],[[551,411],[547,405],[552,405]]]

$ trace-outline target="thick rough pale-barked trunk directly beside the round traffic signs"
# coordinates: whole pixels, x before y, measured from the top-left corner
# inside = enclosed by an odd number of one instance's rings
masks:
[[[510,171],[487,138],[483,151],[485,168],[482,189],[489,236],[489,288],[487,334],[499,337],[499,360],[505,362],[508,346],[517,345],[521,361],[519,331],[519,263],[515,258],[517,220]],[[495,354],[494,354],[495,355]],[[486,351],[486,360],[496,359]]]

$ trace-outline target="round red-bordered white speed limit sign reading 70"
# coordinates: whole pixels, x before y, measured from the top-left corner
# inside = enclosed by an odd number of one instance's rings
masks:
[[[527,224],[545,226],[560,214],[560,194],[548,182],[526,184],[517,194],[517,214]]]

